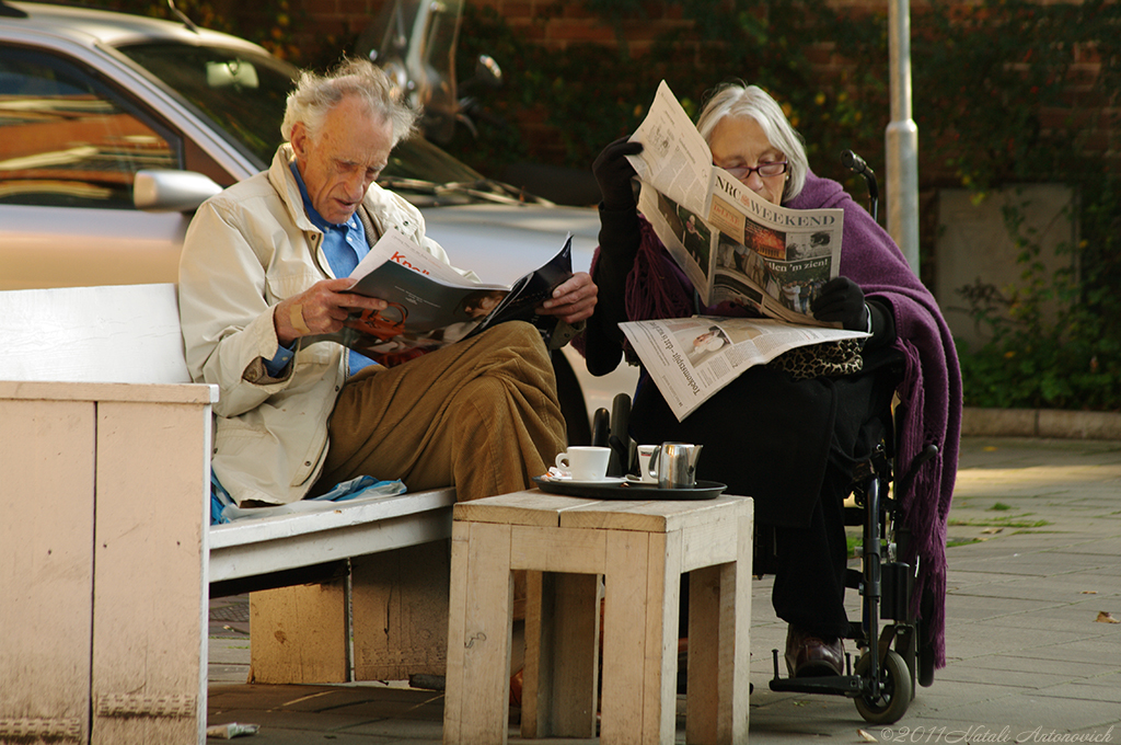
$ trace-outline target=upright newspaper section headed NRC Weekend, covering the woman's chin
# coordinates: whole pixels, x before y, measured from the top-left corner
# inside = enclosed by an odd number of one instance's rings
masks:
[[[739,303],[815,326],[817,292],[840,274],[842,210],[789,210],[767,202],[723,168],[665,81],[630,138],[642,191],[639,210],[705,305]]]

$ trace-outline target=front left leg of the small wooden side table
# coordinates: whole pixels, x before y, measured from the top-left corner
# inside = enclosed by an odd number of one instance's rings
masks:
[[[510,526],[466,523],[465,533],[453,535],[453,587],[463,581],[464,595],[451,606],[444,742],[504,745],[513,624]],[[462,652],[453,654],[457,646]]]

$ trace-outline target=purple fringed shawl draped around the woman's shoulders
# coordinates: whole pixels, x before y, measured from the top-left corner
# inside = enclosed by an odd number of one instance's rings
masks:
[[[906,406],[898,433],[897,468],[906,470],[929,443],[938,454],[925,463],[902,506],[910,528],[909,555],[919,560],[912,596],[918,610],[921,590],[935,599],[932,617],[924,618],[924,634],[935,645],[935,664],[946,663],[946,518],[957,473],[957,449],[962,422],[962,381],[949,326],[937,302],[918,280],[890,236],[835,181],[807,174],[806,185],[784,206],[806,210],[844,210],[841,275],[859,284],[867,296],[887,302],[896,319],[896,348],[906,359],[906,372],[897,394]],[[627,314],[632,321],[680,318],[693,314],[693,287],[666,252],[646,220],[634,268],[627,278]],[[595,258],[599,258],[599,249]],[[593,272],[594,272],[593,259]],[[714,307],[710,313],[732,315],[736,309]]]

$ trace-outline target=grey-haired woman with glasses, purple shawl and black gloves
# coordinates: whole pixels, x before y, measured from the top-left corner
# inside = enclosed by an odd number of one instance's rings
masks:
[[[791,679],[843,674],[842,640],[852,631],[844,608],[843,503],[861,463],[886,436],[904,463],[936,445],[937,456],[918,471],[912,494],[901,497],[912,537],[905,549],[909,555],[900,559],[918,568],[915,589],[933,599],[923,609],[923,632],[941,666],[945,519],[961,419],[957,359],[945,320],[876,219],[839,183],[809,169],[804,141],[775,99],[753,85],[724,84],[708,96],[697,129],[713,163],[763,199],[790,209],[844,211],[841,276],[816,288],[809,309],[818,320],[871,337],[860,352],[859,372],[791,372],[795,368],[780,358],[748,369],[682,422],[643,375],[629,434],[640,443],[703,443],[697,477],[754,499],[759,534],[772,539],[762,568],[757,552],[756,572],[775,574],[775,611],[789,624],[785,656]],[[624,355],[637,364],[618,326],[622,321],[682,318],[697,310],[748,313],[728,303],[696,307],[692,285],[637,211],[634,171],[626,156],[641,149],[641,142],[621,139],[593,165],[603,195],[593,261],[601,292],[582,340],[593,375],[610,372]],[[895,435],[886,414],[893,396],[906,406]]]

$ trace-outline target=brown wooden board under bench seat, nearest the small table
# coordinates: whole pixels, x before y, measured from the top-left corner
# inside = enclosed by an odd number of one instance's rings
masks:
[[[352,560],[354,680],[447,671],[451,541]]]

